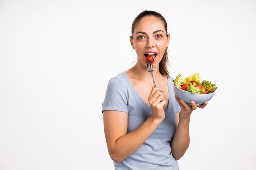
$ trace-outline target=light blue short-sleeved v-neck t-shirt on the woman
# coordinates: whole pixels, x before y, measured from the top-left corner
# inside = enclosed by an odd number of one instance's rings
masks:
[[[177,128],[176,114],[180,106],[174,97],[173,82],[168,77],[169,101],[165,119],[150,137],[130,157],[115,163],[115,170],[178,170],[177,161],[171,153],[171,140]],[[104,110],[128,113],[128,130],[138,128],[151,114],[151,109],[136,92],[125,72],[112,77],[108,82]]]

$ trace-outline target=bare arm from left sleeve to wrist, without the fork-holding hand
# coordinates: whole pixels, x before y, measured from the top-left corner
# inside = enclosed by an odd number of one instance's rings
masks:
[[[136,130],[127,134],[127,113],[105,110],[103,121],[108,152],[111,159],[116,163],[120,163],[132,155],[161,123],[150,116]]]

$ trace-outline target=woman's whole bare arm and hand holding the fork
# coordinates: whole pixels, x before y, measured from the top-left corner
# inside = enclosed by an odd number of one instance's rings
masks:
[[[108,152],[116,163],[134,153],[164,120],[164,100],[161,88],[152,88],[148,97],[152,115],[136,130],[127,134],[128,113],[105,110],[103,111],[104,131]]]

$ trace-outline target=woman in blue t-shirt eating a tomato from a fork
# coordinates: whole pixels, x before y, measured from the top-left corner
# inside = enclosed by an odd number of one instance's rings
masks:
[[[110,79],[102,104],[106,143],[116,170],[178,170],[189,147],[191,106],[174,95],[168,72],[170,35],[164,17],[141,12],[130,43],[137,63]],[[155,83],[145,61],[152,55]],[[198,106],[204,108],[207,105]]]

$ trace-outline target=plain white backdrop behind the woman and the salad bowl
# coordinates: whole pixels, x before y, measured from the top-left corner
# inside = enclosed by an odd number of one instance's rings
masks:
[[[218,86],[180,170],[256,170],[255,0],[0,0],[0,170],[114,169],[101,103],[144,10],[166,18],[171,75]]]

